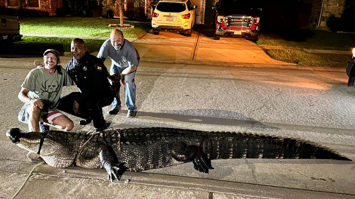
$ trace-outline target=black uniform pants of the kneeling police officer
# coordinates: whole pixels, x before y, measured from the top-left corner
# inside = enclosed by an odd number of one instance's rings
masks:
[[[72,92],[60,98],[58,110],[69,113],[83,119],[92,119],[95,128],[100,128],[105,124],[102,107],[109,106],[113,101],[113,94],[95,95],[87,98],[85,103],[79,104],[78,114],[74,113],[73,105],[77,97],[81,96],[81,92]]]

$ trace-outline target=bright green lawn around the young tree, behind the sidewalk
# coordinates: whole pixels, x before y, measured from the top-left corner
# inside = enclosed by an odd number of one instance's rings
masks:
[[[109,24],[119,24],[118,19],[86,17],[26,17],[21,18],[21,33],[56,34],[73,36],[109,37],[113,28]],[[125,38],[138,39],[151,29],[151,24],[124,22],[134,28],[121,29]]]

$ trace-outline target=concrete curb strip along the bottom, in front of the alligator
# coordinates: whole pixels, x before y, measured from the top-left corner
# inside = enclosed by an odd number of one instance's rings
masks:
[[[37,164],[28,161],[4,159],[1,160],[1,163],[0,171],[23,174],[28,174],[32,167]],[[14,169],[13,165],[16,165],[16,169]],[[84,169],[74,166],[59,169],[43,164],[37,167],[33,175],[109,181],[107,180],[107,172],[104,169]],[[350,199],[354,197],[353,194],[129,171],[126,171],[124,175],[121,176],[121,180],[115,181],[115,183],[124,183],[125,179],[129,179],[129,183],[133,186],[146,185],[166,189],[190,190],[191,192],[202,191],[208,192],[213,198],[225,199]],[[55,181],[48,181],[48,183],[55,183]]]

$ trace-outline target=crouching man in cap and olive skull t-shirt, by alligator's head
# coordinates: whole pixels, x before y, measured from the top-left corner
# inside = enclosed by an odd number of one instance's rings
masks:
[[[72,85],[72,79],[59,65],[58,51],[46,50],[43,53],[43,63],[44,67],[32,69],[21,85],[18,98],[24,105],[18,113],[18,120],[28,124],[28,129],[32,132],[39,132],[39,122],[70,131],[74,127],[73,121],[59,112],[57,107],[63,86]],[[27,157],[32,161],[41,160],[33,152],[29,152]]]

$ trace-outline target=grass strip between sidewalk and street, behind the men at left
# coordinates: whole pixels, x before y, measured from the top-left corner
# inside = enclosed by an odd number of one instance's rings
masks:
[[[71,38],[55,38],[42,36],[23,36],[23,41],[14,43],[18,49],[32,49],[33,51],[44,52],[46,49],[56,49],[58,51],[70,52]],[[83,39],[87,50],[91,53],[99,51],[105,40]]]

